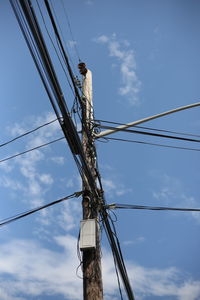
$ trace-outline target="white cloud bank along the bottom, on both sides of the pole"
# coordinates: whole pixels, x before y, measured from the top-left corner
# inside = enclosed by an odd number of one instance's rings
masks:
[[[25,300],[42,295],[63,295],[65,299],[82,299],[82,281],[76,277],[79,261],[77,238],[72,235],[54,238],[57,250],[50,250],[34,240],[13,240],[1,244],[1,299]],[[136,299],[176,297],[178,300],[197,300],[200,281],[171,267],[145,268],[126,262]],[[105,299],[118,299],[118,286],[111,254],[103,250],[103,281]],[[6,279],[4,278],[6,276]],[[2,298],[5,295],[5,298]],[[20,295],[20,296],[19,296]]]

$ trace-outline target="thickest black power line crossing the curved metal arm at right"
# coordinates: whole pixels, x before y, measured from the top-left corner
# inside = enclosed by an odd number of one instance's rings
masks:
[[[98,127],[104,128],[104,129],[115,129],[113,126],[104,126],[104,125],[99,125]],[[156,136],[156,137],[162,137],[162,138],[168,138],[168,139],[175,139],[175,140],[181,140],[181,141],[187,141],[187,142],[196,142],[199,143],[200,140],[196,139],[189,139],[189,138],[184,138],[184,137],[179,137],[179,136],[172,136],[172,135],[166,135],[166,134],[158,134],[158,133],[152,133],[152,132],[147,132],[147,131],[139,131],[139,130],[131,130],[127,128],[122,128],[116,132],[123,131],[123,132],[128,132],[128,133],[136,133],[136,134],[144,134],[144,135],[150,135],[150,136]]]

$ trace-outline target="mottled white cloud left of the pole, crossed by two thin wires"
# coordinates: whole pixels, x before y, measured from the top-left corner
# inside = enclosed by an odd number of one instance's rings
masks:
[[[7,131],[12,137],[16,137],[19,134],[29,131],[31,128],[39,127],[52,120],[55,120],[53,113],[46,113],[41,116],[30,116],[21,123],[15,123],[12,127],[7,127]],[[58,136],[61,136],[61,130],[58,122],[55,121],[24,137],[23,145],[25,145],[25,149],[29,149],[56,139]],[[9,176],[0,177],[1,186],[11,190],[21,191],[20,201],[28,203],[29,208],[42,205],[47,192],[54,183],[50,172],[40,171],[41,163],[47,160],[47,156],[45,155],[47,151],[49,151],[48,159],[51,160],[50,147],[37,149],[15,158],[12,161],[12,171],[17,171],[18,180],[13,179],[11,172],[9,172]],[[55,157],[54,155],[52,160],[58,164],[62,164],[64,158],[61,156]],[[5,171],[7,172],[7,170]],[[44,216],[44,213],[42,213],[42,215]]]

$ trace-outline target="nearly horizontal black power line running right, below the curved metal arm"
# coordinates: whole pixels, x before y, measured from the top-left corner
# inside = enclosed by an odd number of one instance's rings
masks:
[[[108,209],[145,209],[145,210],[173,210],[173,211],[198,211],[200,208],[180,208],[180,207],[163,207],[163,206],[146,206],[146,205],[134,205],[134,204],[118,204],[113,203],[105,206]]]

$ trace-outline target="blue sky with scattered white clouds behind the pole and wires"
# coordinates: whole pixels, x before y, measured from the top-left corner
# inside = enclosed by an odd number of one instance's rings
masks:
[[[198,1],[65,1],[81,59],[93,72],[95,118],[127,123],[198,102]],[[73,95],[42,26],[67,105]],[[41,8],[49,26],[43,1]],[[75,66],[78,58],[62,2],[51,1]],[[50,34],[53,37],[53,33]],[[1,142],[53,120],[48,97],[9,1],[0,2]],[[54,37],[53,37],[54,38]],[[199,108],[144,126],[199,134]],[[0,158],[62,136],[54,122],[2,147]],[[198,148],[128,133],[113,137]],[[96,142],[108,203],[200,207],[199,152],[116,141]],[[64,141],[0,163],[0,219],[81,190]],[[198,213],[116,210],[116,228],[136,299],[200,299]],[[82,299],[76,275],[81,199],[71,199],[0,231],[0,298]],[[120,299],[103,234],[105,299]],[[81,276],[81,270],[78,269]],[[126,296],[124,295],[124,299]]]

